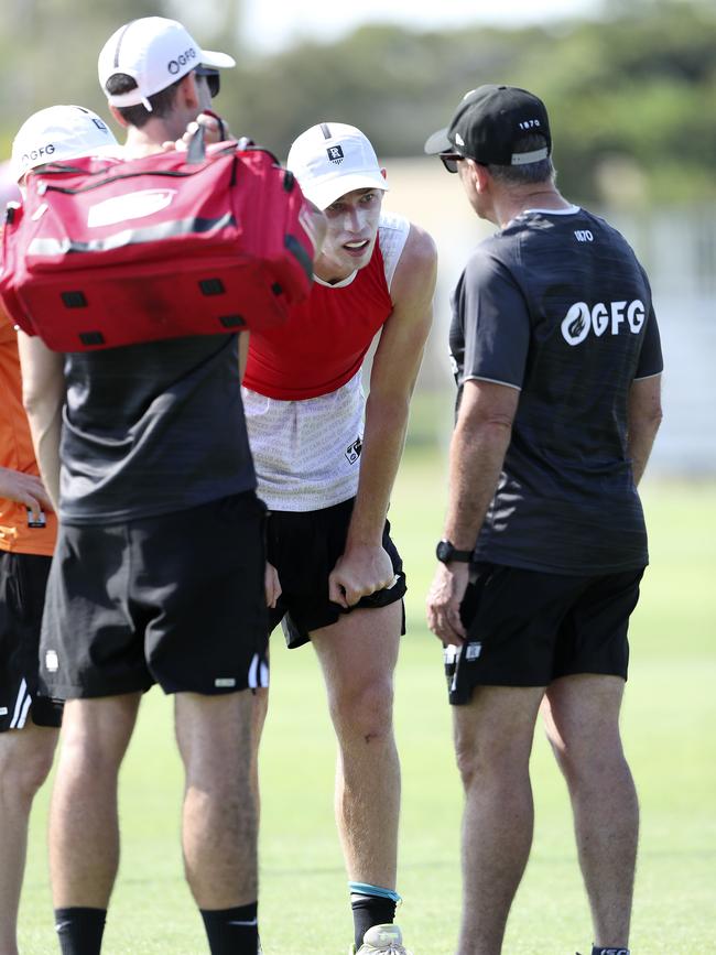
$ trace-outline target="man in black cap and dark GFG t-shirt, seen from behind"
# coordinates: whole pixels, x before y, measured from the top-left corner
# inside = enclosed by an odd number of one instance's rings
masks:
[[[572,797],[593,955],[628,952],[638,804],[618,718],[662,359],[643,269],[561,196],[551,149],[542,101],[505,86],[468,93],[425,144],[499,228],[453,299],[457,416],[427,598],[466,791],[459,955],[501,951],[532,838],[540,707]]]

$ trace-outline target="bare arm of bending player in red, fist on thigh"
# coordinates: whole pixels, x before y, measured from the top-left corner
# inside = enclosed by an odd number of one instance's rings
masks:
[[[329,578],[330,599],[352,606],[393,580],[382,534],[403,452],[410,399],[430,333],[437,253],[414,226],[392,283],[393,311],[373,358],[360,477],[346,550]]]

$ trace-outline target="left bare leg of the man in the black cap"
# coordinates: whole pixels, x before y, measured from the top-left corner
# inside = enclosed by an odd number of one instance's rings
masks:
[[[481,686],[454,707],[465,786],[458,955],[499,955],[532,844],[530,751],[542,688]]]

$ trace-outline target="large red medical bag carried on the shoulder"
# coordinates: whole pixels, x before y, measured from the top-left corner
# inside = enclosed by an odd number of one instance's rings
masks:
[[[55,351],[261,329],[311,289],[311,217],[271,153],[203,141],[70,160],[10,204],[0,296]]]

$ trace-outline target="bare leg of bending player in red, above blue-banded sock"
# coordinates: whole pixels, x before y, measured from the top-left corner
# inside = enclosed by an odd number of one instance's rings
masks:
[[[400,762],[392,727],[399,603],[312,633],[338,738],[336,822],[348,878],[395,888]]]

